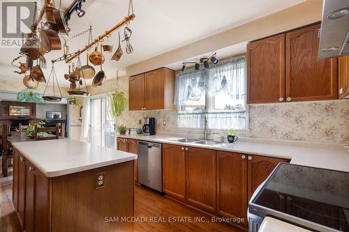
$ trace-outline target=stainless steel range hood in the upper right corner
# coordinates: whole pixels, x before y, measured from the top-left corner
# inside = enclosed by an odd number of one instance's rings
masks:
[[[349,0],[324,0],[319,59],[349,55]]]

